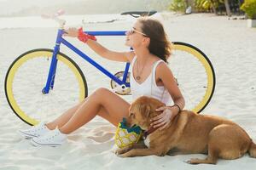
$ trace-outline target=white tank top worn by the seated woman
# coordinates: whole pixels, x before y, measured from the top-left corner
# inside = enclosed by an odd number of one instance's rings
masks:
[[[149,96],[155,99],[159,99],[161,102],[165,103],[166,105],[172,105],[172,98],[169,94],[168,90],[163,86],[157,86],[155,82],[155,70],[156,66],[160,64],[160,62],[165,62],[163,60],[158,60],[154,62],[152,71],[150,72],[147,79],[142,82],[141,84],[136,82],[135,78],[133,77],[133,65],[137,57],[135,56],[131,61],[131,94],[132,100],[137,99],[140,96]]]

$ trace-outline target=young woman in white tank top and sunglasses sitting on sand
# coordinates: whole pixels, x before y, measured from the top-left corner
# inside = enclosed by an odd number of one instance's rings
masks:
[[[96,38],[85,34],[81,29],[69,28],[65,36],[78,37],[96,54],[103,58],[131,63],[132,99],[147,95],[160,99],[166,106],[159,108],[162,114],[154,117],[152,124],[165,128],[172,118],[185,105],[172,71],[166,60],[171,55],[172,45],[160,21],[148,17],[139,18],[131,31],[126,32],[125,45],[133,51],[119,53],[104,48]],[[108,96],[108,98],[102,98]],[[171,104],[174,105],[171,105]],[[73,106],[53,122],[41,122],[30,129],[20,130],[20,134],[32,139],[34,145],[61,145],[67,141],[67,134],[90,122],[95,116],[117,126],[123,117],[128,116],[130,103],[107,88],[98,88],[78,105]]]

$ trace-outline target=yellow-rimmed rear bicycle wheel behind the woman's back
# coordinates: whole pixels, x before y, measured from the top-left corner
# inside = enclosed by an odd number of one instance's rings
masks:
[[[200,113],[214,93],[216,80],[212,63],[199,48],[184,42],[173,44],[168,66],[185,99],[184,109]]]

